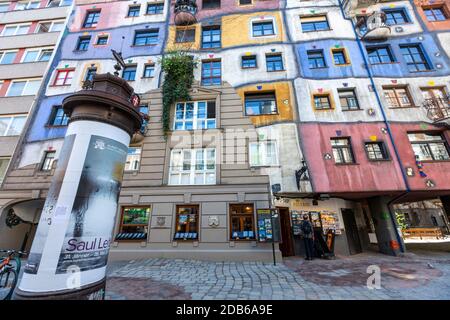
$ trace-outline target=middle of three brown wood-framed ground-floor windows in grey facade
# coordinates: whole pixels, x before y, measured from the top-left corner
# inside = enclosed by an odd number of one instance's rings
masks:
[[[199,206],[177,205],[174,240],[198,240]]]

